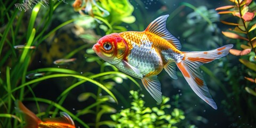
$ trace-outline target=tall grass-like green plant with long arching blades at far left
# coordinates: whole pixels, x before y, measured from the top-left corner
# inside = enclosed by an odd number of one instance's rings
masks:
[[[85,82],[99,86],[100,89],[106,91],[117,102],[116,97],[107,87],[93,79],[97,78],[97,76],[94,74],[82,75],[81,73],[77,73],[77,71],[66,68],[50,67],[33,69],[38,47],[42,46],[45,39],[52,36],[61,27],[68,25],[76,19],[67,20],[50,29],[54,11],[63,1],[50,1],[49,6],[45,8],[42,8],[41,4],[36,4],[31,12],[19,12],[17,8],[12,10],[11,7],[14,6],[14,3],[17,3],[17,1],[12,1],[11,4],[0,1],[1,9],[5,10],[2,11],[0,18],[2,25],[0,29],[0,127],[22,127],[22,116],[14,111],[15,100],[35,102],[39,117],[47,117],[49,114],[55,117],[58,111],[61,110],[70,115],[74,121],[77,121],[83,127],[89,127],[82,119],[77,118],[62,105],[70,90]],[[40,14],[41,11],[44,13]],[[24,20],[26,18],[29,18],[29,20]],[[38,18],[41,18],[41,20],[37,20]],[[17,45],[19,47],[21,46],[20,49],[16,49]],[[88,45],[85,46],[88,47]],[[77,50],[74,50],[68,55],[72,57],[76,52]],[[67,79],[70,77],[73,77],[74,81],[54,101],[39,98],[36,96],[37,93],[34,92],[34,89],[41,86],[41,83],[44,81],[52,78]],[[41,103],[46,103],[49,106],[44,112],[41,112],[39,109],[41,108]]]

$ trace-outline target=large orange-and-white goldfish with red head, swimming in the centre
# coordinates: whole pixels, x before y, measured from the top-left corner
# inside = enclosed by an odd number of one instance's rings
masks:
[[[199,66],[224,57],[233,45],[211,51],[181,52],[179,40],[166,29],[167,17],[169,15],[155,19],[144,31],[125,31],[103,36],[92,49],[101,59],[119,70],[140,78],[157,102],[162,102],[161,83],[157,75],[165,69],[173,79],[177,79],[177,65],[191,89],[217,109]]]

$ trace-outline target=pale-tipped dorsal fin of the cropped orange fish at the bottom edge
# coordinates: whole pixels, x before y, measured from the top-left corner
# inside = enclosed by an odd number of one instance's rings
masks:
[[[73,119],[65,112],[60,112],[61,117],[55,118],[44,118],[44,122],[55,122],[55,123],[65,123],[75,126]]]

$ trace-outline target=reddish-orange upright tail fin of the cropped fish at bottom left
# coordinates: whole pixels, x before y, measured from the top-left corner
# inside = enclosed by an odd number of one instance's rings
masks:
[[[22,102],[16,101],[17,110],[25,114],[25,122],[27,128],[38,127],[38,123],[41,121],[32,111],[23,105]]]

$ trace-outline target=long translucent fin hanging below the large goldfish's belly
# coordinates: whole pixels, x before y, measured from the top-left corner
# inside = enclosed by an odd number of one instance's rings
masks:
[[[157,76],[144,77],[141,79],[142,84],[145,86],[149,94],[158,102],[162,102],[161,83]]]

